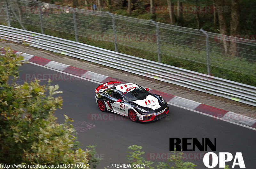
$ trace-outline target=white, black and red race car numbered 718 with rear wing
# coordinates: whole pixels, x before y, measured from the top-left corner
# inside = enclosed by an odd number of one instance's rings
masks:
[[[99,85],[95,92],[101,111],[111,111],[129,117],[131,121],[154,121],[169,113],[169,106],[159,95],[133,83],[111,81]]]

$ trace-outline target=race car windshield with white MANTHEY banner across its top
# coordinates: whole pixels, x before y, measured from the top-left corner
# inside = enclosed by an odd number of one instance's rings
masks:
[[[148,95],[148,92],[142,87],[138,86],[123,93],[124,99],[129,102],[139,100]]]

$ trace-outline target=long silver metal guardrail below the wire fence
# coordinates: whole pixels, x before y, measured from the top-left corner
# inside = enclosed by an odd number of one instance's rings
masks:
[[[25,42],[33,47],[256,106],[254,86],[8,26],[0,25],[0,36],[5,40]]]

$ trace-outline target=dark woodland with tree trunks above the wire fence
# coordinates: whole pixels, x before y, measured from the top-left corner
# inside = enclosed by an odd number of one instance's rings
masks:
[[[59,3],[61,0],[43,0],[47,3]],[[63,2],[69,2],[72,6],[74,0],[67,0]],[[100,1],[101,2],[101,1]],[[83,5],[100,3],[98,0],[77,0],[79,8],[83,8]],[[105,0],[102,1],[100,8],[97,10],[111,11],[112,13],[119,15],[132,16],[141,19],[153,19],[157,22],[163,22],[172,25],[184,26],[189,28],[200,29],[205,31],[223,34],[226,31],[226,35],[234,35],[231,31],[232,28],[237,28],[236,24],[239,23],[239,28],[236,30],[238,33],[235,35],[255,35],[256,29],[254,25],[256,22],[255,17],[255,5],[256,1],[251,0],[131,0],[131,14],[128,10],[128,0]],[[151,3],[151,5],[150,5]],[[238,15],[234,16],[234,4],[236,5]],[[169,8],[167,8],[169,6]],[[172,6],[172,8],[170,8]],[[182,13],[179,11],[179,6],[183,8]],[[153,8],[152,8],[153,7]],[[233,8],[233,9],[232,9]],[[91,8],[92,9],[92,8]],[[190,11],[192,9],[192,11]],[[194,9],[194,10],[193,10]],[[248,12],[248,9],[251,12]],[[151,10],[151,11],[150,11]],[[218,15],[220,14],[220,20]],[[232,25],[231,25],[232,22]],[[223,30],[223,24],[226,24],[227,29]],[[249,37],[251,38],[251,37]],[[252,37],[254,38],[254,36]],[[248,39],[247,36],[245,39]],[[253,40],[253,39],[252,39]]]

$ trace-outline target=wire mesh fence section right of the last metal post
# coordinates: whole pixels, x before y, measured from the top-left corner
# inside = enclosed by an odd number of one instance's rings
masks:
[[[247,84],[255,85],[255,41],[210,32],[208,34],[212,74],[234,81],[243,78]],[[223,73],[223,70],[230,71]]]

